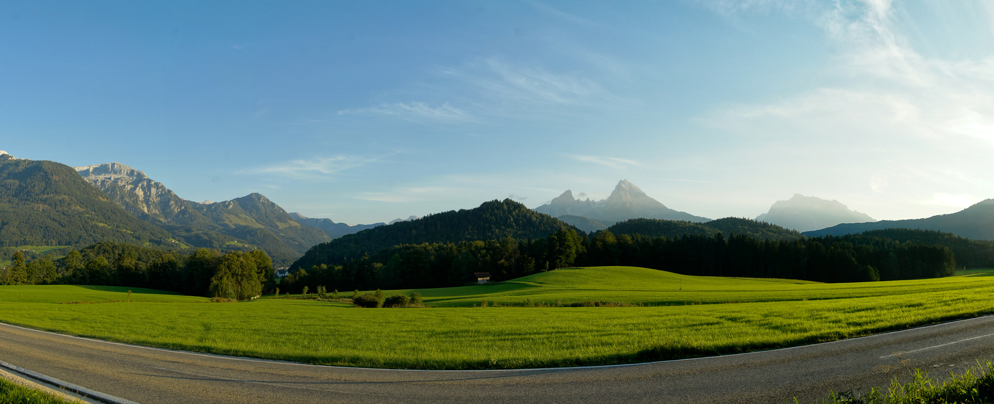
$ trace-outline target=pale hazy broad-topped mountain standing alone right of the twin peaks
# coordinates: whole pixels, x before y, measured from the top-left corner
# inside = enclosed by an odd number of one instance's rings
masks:
[[[769,211],[756,216],[756,221],[766,221],[797,231],[817,230],[839,223],[877,221],[866,213],[850,210],[838,201],[794,194],[788,201],[777,201]]]

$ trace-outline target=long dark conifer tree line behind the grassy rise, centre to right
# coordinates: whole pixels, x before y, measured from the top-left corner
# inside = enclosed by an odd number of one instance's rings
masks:
[[[337,263],[298,267],[280,287],[293,293],[319,285],[336,290],[437,288],[467,284],[475,272],[505,281],[570,266],[605,265],[836,283],[949,276],[956,268],[956,254],[986,257],[971,262],[994,265],[991,243],[930,230],[902,233],[904,240],[888,237],[898,232],[760,240],[721,232],[650,237],[602,230],[587,237],[561,227],[538,239],[395,245]],[[959,247],[942,245],[943,240]]]

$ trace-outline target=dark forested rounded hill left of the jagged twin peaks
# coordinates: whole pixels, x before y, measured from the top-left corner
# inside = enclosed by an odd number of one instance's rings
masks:
[[[472,209],[443,211],[410,221],[346,234],[312,247],[291,268],[341,264],[401,244],[543,238],[561,227],[576,227],[511,200],[490,201]]]

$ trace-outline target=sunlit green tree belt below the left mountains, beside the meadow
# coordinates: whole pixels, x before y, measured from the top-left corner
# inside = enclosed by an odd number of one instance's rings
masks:
[[[272,261],[262,250],[190,255],[109,241],[52,261],[26,261],[16,252],[0,273],[4,285],[103,285],[173,291],[191,296],[246,300],[274,284]]]

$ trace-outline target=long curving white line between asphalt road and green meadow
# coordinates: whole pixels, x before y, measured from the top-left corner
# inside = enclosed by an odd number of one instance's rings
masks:
[[[136,348],[142,348],[142,349],[150,349],[150,350],[161,350],[163,352],[183,353],[183,354],[195,355],[195,356],[208,356],[208,357],[218,357],[218,358],[222,358],[222,359],[245,360],[245,361],[248,361],[248,362],[282,363],[282,364],[292,364],[292,365],[297,365],[297,366],[333,367],[333,368],[338,368],[338,369],[360,369],[360,370],[426,371],[426,372],[460,372],[460,371],[489,371],[489,372],[497,372],[497,371],[532,371],[532,370],[571,370],[571,369],[592,369],[592,368],[598,368],[598,367],[638,366],[638,365],[652,364],[652,363],[680,362],[680,361],[685,361],[685,360],[701,360],[701,359],[709,359],[709,358],[715,358],[715,357],[748,355],[748,354],[762,353],[762,352],[773,352],[773,351],[777,351],[777,350],[796,349],[796,348],[808,347],[808,346],[827,345],[829,343],[839,343],[839,342],[844,342],[844,341],[847,341],[847,340],[856,340],[856,339],[863,339],[863,338],[872,338],[872,337],[887,336],[889,334],[906,333],[906,332],[910,332],[910,331],[914,331],[914,330],[930,329],[932,327],[944,326],[944,325],[952,324],[952,323],[960,323],[960,322],[969,322],[969,321],[972,321],[972,320],[980,320],[980,319],[984,319],[984,318],[988,318],[988,317],[992,317],[992,316],[994,316],[994,315],[985,315],[985,316],[979,316],[979,317],[974,317],[974,318],[970,318],[970,319],[953,320],[953,321],[943,322],[943,323],[939,323],[939,324],[933,324],[933,325],[930,325],[930,326],[915,327],[915,328],[911,328],[911,329],[898,330],[898,331],[881,333],[881,334],[874,334],[874,335],[865,336],[865,337],[855,337],[855,338],[847,338],[847,339],[836,339],[836,340],[830,340],[828,342],[810,343],[810,344],[807,344],[807,345],[797,345],[797,346],[787,346],[787,347],[781,347],[781,348],[776,348],[776,349],[753,350],[751,352],[730,353],[730,354],[727,354],[727,355],[718,355],[718,356],[688,357],[688,358],[685,358],[685,359],[656,360],[656,361],[651,361],[651,362],[639,362],[639,363],[602,364],[602,365],[597,365],[597,366],[534,367],[534,368],[528,368],[528,369],[465,369],[465,370],[385,369],[385,368],[382,368],[382,367],[355,367],[355,366],[332,366],[332,365],[327,365],[327,364],[310,364],[310,363],[291,362],[291,361],[287,361],[287,360],[259,359],[259,358],[254,358],[254,357],[229,356],[229,355],[222,355],[222,354],[215,354],[215,353],[193,352],[193,351],[189,351],[189,350],[166,349],[166,348],[161,348],[161,347],[142,346],[142,345],[135,345],[135,344],[131,344],[131,343],[113,342],[113,341],[103,340],[103,339],[87,338],[87,337],[76,337],[76,336],[70,336],[70,335],[66,335],[66,334],[46,332],[46,331],[41,331],[41,330],[29,329],[27,327],[14,326],[14,325],[6,324],[6,323],[0,323],[0,326],[12,327],[12,328],[15,328],[15,329],[26,330],[26,331],[34,332],[34,333],[50,334],[50,335],[59,336],[59,337],[71,337],[71,338],[89,340],[89,341],[93,341],[93,342],[110,343],[110,344],[114,344],[114,345],[130,346],[130,347],[136,347]]]

